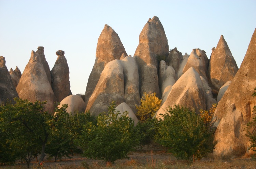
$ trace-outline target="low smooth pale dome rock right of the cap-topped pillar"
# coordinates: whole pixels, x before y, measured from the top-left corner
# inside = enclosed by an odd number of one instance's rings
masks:
[[[81,95],[79,95],[79,94],[69,95],[69,96],[65,97],[60,102],[60,105],[58,107],[60,108],[64,104],[68,105],[68,108],[66,109],[66,111],[69,114],[75,115],[76,113],[82,113],[82,112],[84,113],[85,102],[82,99]]]

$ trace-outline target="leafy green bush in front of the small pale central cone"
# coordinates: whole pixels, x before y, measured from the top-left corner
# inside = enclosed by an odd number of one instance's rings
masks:
[[[87,158],[114,162],[117,159],[128,158],[128,152],[136,144],[134,122],[127,116],[127,112],[120,115],[115,109],[114,102],[108,108],[107,113],[101,113],[97,117],[97,125],[89,122],[83,126],[78,144]]]

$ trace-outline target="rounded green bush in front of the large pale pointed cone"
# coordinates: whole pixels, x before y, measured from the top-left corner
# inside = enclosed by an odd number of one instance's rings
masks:
[[[156,141],[181,159],[201,159],[214,149],[213,134],[195,111],[175,105],[160,119]]]

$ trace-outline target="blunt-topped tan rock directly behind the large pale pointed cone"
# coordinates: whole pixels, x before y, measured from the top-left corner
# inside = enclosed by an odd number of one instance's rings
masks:
[[[200,49],[193,49],[188,57],[187,63],[183,69],[183,73],[185,73],[191,67],[193,67],[200,76],[207,79],[208,57],[203,50],[201,51]]]

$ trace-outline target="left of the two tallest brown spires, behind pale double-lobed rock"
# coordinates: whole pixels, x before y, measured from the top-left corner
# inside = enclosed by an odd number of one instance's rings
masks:
[[[98,39],[96,59],[86,87],[86,105],[91,97],[91,94],[94,92],[105,65],[112,60],[120,59],[123,54],[124,56],[128,56],[119,36],[109,25],[105,24],[104,29],[102,30]]]

